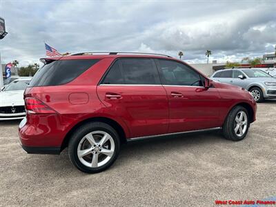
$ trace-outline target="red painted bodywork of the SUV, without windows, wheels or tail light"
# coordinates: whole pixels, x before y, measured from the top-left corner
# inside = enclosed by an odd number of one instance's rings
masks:
[[[212,87],[99,84],[109,66],[118,58],[141,55],[79,55],[66,59],[100,59],[79,77],[61,86],[27,88],[25,99],[32,97],[52,113],[27,111],[26,124],[19,127],[22,146],[66,146],[68,133],[82,121],[108,119],[124,131],[126,139],[221,127],[228,112],[238,104],[252,111],[255,121],[256,103],[242,88],[210,81]],[[143,56],[142,56],[143,57]],[[146,55],[150,59],[169,59]],[[179,61],[179,63],[184,63]],[[201,74],[200,72],[198,72]],[[201,74],[202,75],[202,74]],[[205,77],[204,75],[202,75]],[[207,77],[205,77],[208,79]]]

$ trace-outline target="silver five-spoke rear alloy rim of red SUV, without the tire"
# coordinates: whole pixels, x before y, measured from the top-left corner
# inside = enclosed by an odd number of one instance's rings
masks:
[[[98,168],[106,164],[115,153],[115,141],[101,130],[85,135],[79,142],[77,156],[79,161],[89,168]]]

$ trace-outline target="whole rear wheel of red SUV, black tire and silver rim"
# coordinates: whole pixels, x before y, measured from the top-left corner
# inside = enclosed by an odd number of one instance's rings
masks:
[[[102,122],[91,122],[77,128],[70,137],[68,154],[79,170],[97,173],[106,170],[119,155],[120,140],[114,128]]]

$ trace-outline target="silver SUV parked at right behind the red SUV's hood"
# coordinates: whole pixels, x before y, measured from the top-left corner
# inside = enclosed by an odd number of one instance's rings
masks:
[[[259,69],[218,70],[211,76],[211,79],[240,86],[250,91],[257,102],[276,98],[276,78]]]

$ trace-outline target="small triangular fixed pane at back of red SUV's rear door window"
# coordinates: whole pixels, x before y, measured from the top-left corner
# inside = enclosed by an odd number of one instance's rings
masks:
[[[124,84],[124,78],[121,75],[121,68],[119,61],[116,61],[110,70],[108,71],[108,75],[103,80],[104,84]]]

